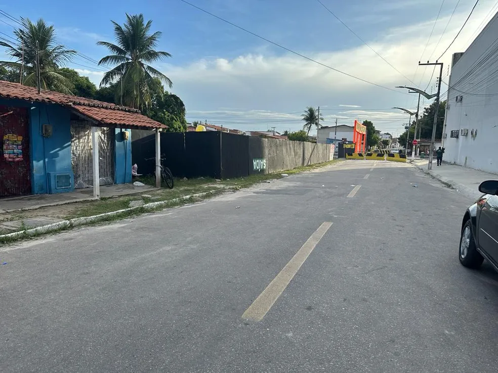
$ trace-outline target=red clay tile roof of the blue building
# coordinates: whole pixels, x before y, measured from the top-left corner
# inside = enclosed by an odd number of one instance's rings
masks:
[[[34,87],[3,80],[0,80],[0,97],[68,106],[102,124],[168,128],[167,125],[140,114],[140,110],[137,109],[84,97],[65,95],[51,90],[41,90],[38,94],[37,89]]]

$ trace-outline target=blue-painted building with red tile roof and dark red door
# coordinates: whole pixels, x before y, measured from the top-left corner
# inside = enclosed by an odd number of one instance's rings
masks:
[[[165,128],[135,109],[0,81],[0,198],[91,187],[92,127],[100,185],[132,181],[131,129]]]

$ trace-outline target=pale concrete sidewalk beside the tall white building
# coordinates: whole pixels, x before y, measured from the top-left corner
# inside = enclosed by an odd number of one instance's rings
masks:
[[[459,165],[443,163],[437,166],[434,161],[432,170],[427,169],[429,161],[415,160],[412,164],[425,173],[435,177],[439,181],[448,184],[449,187],[456,189],[466,197],[478,199],[482,193],[477,190],[479,184],[484,180],[498,180],[498,175],[484,171],[475,170],[473,168],[462,167]]]

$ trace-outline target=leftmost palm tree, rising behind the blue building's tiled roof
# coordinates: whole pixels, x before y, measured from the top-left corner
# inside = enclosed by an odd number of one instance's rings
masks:
[[[0,66],[17,74],[21,84],[37,86],[36,79],[36,43],[40,67],[40,88],[56,90],[71,94],[66,77],[59,71],[76,54],[56,41],[54,26],[48,26],[43,19],[32,23],[28,18],[21,18],[22,26],[14,30],[17,44],[0,41],[7,54],[14,61],[0,61]],[[22,72],[22,73],[21,73]]]

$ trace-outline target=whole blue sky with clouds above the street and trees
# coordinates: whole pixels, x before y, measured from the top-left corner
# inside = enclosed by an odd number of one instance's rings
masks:
[[[189,1],[351,75],[389,88],[411,84],[406,76],[427,90],[434,89],[435,79],[430,79],[432,68],[417,68],[419,59],[439,57],[474,4],[474,0],[460,0],[455,9],[458,0],[445,0],[434,23],[440,0],[321,0],[403,76],[316,0]],[[22,7],[18,4],[6,2],[0,9],[16,18],[44,18],[55,26],[59,42],[95,60],[106,54],[96,41],[113,41],[110,20],[122,23],[125,13],[143,13],[153,21],[153,30],[163,33],[158,50],[173,55],[155,67],[173,81],[171,91],[185,102],[189,120],[208,120],[243,130],[266,130],[272,126],[280,131],[297,130],[302,126],[299,112],[312,105],[320,106],[325,125],[333,125],[335,118],[340,124],[370,119],[378,129],[396,134],[402,131],[408,117],[389,108],[416,106],[415,95],[407,95],[403,90],[392,92],[317,65],[180,0],[25,1]],[[498,10],[495,4],[494,0],[479,2],[464,31],[441,60],[445,63],[443,81],[447,81],[446,66],[451,54],[468,47]],[[0,19],[14,24],[5,17]],[[0,31],[12,35],[13,29],[0,23]],[[105,70],[81,57],[69,66],[97,84]],[[443,91],[444,88],[443,85]]]

